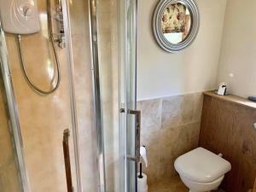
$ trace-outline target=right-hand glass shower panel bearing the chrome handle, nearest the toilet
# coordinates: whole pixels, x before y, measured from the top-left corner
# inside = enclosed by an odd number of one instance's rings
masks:
[[[137,1],[91,2],[96,5],[96,15],[91,15],[96,17],[92,44],[97,46],[99,68],[96,89],[101,97],[96,104],[102,109],[102,138],[98,139],[102,139],[104,148],[104,187],[107,192],[136,192]]]

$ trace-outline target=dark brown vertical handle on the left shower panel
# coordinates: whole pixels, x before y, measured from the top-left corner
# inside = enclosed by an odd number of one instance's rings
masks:
[[[63,154],[65,160],[65,169],[66,169],[66,178],[67,178],[67,192],[73,192],[73,184],[72,184],[72,173],[70,166],[70,154],[69,154],[69,143],[68,137],[70,136],[69,130],[65,130],[63,133]]]

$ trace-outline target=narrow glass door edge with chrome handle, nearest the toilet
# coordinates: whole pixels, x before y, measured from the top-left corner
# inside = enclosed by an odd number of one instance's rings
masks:
[[[140,120],[137,111],[137,0],[120,4],[120,132],[125,151],[125,192],[137,192],[137,162],[140,158]],[[123,10],[122,10],[123,9]],[[124,40],[125,39],[125,40]],[[122,150],[122,148],[121,148]]]

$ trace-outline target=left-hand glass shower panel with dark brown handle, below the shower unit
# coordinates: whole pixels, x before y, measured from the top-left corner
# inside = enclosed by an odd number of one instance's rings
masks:
[[[56,80],[53,59],[55,50],[49,44],[47,1],[38,1],[37,5],[41,30],[22,38],[22,45],[23,53],[26,55],[27,72],[35,84],[47,90],[49,84],[55,84]],[[54,12],[52,9],[51,11]],[[82,191],[79,183],[79,149],[77,119],[73,104],[75,99],[73,76],[70,58],[67,56],[72,51],[68,46],[70,40],[68,6],[63,9],[63,12],[66,17],[64,26],[66,26],[67,48],[56,50],[61,65],[61,84],[55,92],[47,96],[39,94],[27,84],[20,66],[19,44],[16,36],[3,33],[1,28],[1,67],[3,69],[1,74],[4,79],[4,89],[2,86],[1,94],[8,95],[9,112],[7,114],[11,120],[5,121],[8,125],[15,125],[12,126],[12,134],[9,135],[10,141],[14,141],[12,143],[15,148],[14,154],[11,154],[6,146],[3,150],[1,149],[0,161],[5,160],[3,164],[0,162],[1,192],[7,187],[9,192]],[[54,20],[54,18],[51,19]],[[53,27],[55,28],[55,25]],[[4,116],[5,113],[1,111],[1,117]],[[3,118],[0,122],[1,146],[2,142],[9,145],[7,132],[3,132],[4,129],[6,130],[5,121]],[[2,140],[2,137],[7,139]],[[9,155],[6,158],[5,153]],[[12,155],[14,158],[17,156],[15,164],[11,163],[14,161]],[[15,165],[19,169],[15,170]],[[2,168],[5,172],[2,172]],[[13,172],[12,176],[9,175],[11,172]],[[11,183],[9,177],[12,177]],[[18,181],[17,184],[15,180]],[[20,189],[18,189],[19,182]]]

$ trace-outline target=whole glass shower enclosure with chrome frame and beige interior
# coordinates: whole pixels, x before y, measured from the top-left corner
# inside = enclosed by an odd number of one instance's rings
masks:
[[[55,50],[49,20],[56,30],[60,2],[65,48]],[[37,2],[41,29],[22,37],[24,58],[19,39],[1,27],[0,191],[136,192],[137,1],[51,3],[50,19],[47,1]],[[50,90],[58,81],[55,52],[61,81],[45,96],[20,64]]]

